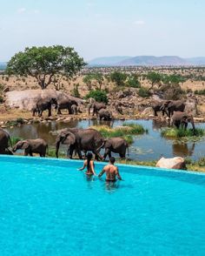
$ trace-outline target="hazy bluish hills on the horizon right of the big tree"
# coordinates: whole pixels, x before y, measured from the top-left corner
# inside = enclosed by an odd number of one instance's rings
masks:
[[[205,57],[182,58],[178,56],[97,57],[89,66],[190,66],[205,65]]]

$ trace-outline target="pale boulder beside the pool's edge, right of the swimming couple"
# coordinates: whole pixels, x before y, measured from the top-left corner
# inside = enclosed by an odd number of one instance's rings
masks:
[[[161,158],[155,165],[159,168],[186,170],[184,158]]]

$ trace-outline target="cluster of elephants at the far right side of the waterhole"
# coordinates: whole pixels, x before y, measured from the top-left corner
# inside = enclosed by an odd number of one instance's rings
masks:
[[[157,112],[162,111],[162,116],[166,114],[168,118],[172,119],[172,125],[175,125],[177,129],[187,129],[188,123],[192,125],[195,130],[194,118],[191,114],[186,113],[186,104],[182,100],[162,100],[152,105],[152,109],[157,116]]]

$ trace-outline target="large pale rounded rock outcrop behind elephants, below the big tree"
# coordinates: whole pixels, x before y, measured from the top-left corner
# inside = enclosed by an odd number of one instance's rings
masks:
[[[5,93],[5,106],[10,108],[19,108],[30,111],[40,98],[75,98],[63,91],[55,90],[25,90],[25,91],[8,91]],[[83,104],[81,98],[75,98],[78,104]]]

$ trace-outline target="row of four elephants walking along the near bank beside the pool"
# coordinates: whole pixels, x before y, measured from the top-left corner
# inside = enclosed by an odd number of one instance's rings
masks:
[[[92,128],[66,128],[60,131],[56,137],[56,158],[58,158],[60,145],[67,145],[68,158],[73,158],[74,154],[77,154],[80,159],[83,159],[82,152],[85,154],[93,152],[97,160],[105,160],[107,156],[111,158],[111,152],[118,153],[121,158],[125,158],[129,147],[125,139],[104,139],[99,131]],[[10,146],[12,150],[9,149]],[[104,148],[103,156],[100,154],[102,148]],[[45,157],[48,153],[48,144],[44,139],[36,138],[18,141],[12,147],[9,133],[0,129],[0,154],[13,154],[17,150],[24,150],[24,156],[32,157],[33,153],[37,153],[40,157]]]

